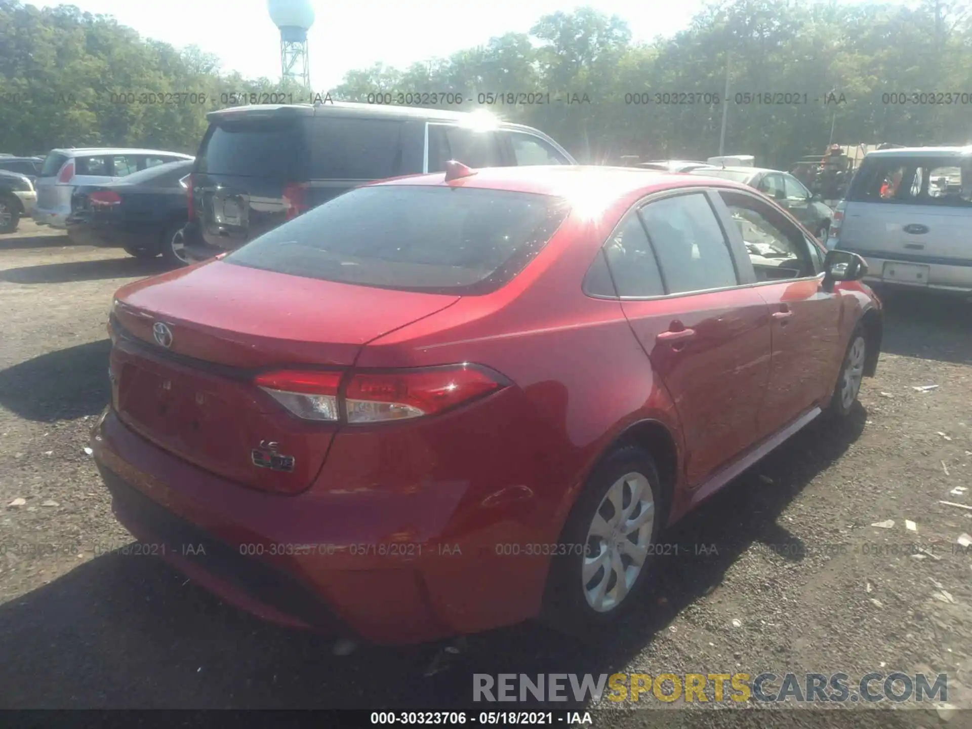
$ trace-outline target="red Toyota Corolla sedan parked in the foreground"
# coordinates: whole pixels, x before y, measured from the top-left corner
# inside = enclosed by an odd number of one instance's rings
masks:
[[[865,271],[730,181],[450,163],[123,287],[92,447],[143,551],[265,618],[585,630],[665,526],[851,411]]]

